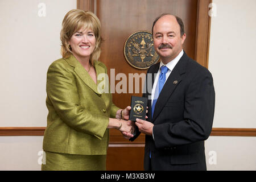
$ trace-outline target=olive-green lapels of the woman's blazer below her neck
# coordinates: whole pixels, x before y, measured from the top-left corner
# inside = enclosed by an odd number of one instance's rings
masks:
[[[94,92],[97,94],[100,94],[97,89],[97,85],[93,81],[93,79],[90,77],[89,73],[85,71],[84,67],[79,63],[79,61],[71,55],[68,59],[66,59],[68,64],[72,67],[75,67],[74,71],[77,73],[77,75],[81,78],[81,80],[89,86]],[[94,68],[96,69],[96,74],[104,73],[104,68],[100,67],[97,63],[94,63]],[[103,69],[103,70],[102,70]]]

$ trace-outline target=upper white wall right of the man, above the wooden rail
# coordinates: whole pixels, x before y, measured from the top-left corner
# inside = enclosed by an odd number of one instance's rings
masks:
[[[209,70],[216,90],[213,127],[256,128],[256,1],[213,0]]]

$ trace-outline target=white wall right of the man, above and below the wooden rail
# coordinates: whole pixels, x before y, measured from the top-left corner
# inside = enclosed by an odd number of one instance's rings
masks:
[[[213,0],[209,70],[216,91],[213,127],[256,128],[255,0]],[[209,137],[208,170],[256,170],[255,137]]]

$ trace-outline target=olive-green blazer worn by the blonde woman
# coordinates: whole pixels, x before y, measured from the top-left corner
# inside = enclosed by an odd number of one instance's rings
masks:
[[[106,66],[96,61],[94,68],[100,79],[97,85],[73,55],[49,66],[44,151],[106,155],[109,117],[115,118],[119,108],[112,103],[108,77],[104,77]],[[98,88],[108,91],[102,93]]]

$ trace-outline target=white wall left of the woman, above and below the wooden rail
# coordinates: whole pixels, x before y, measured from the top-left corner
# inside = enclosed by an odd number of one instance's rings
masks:
[[[46,73],[61,57],[61,23],[71,9],[76,0],[0,1],[0,127],[46,126]],[[0,137],[0,171],[40,170],[42,146],[43,137]]]

